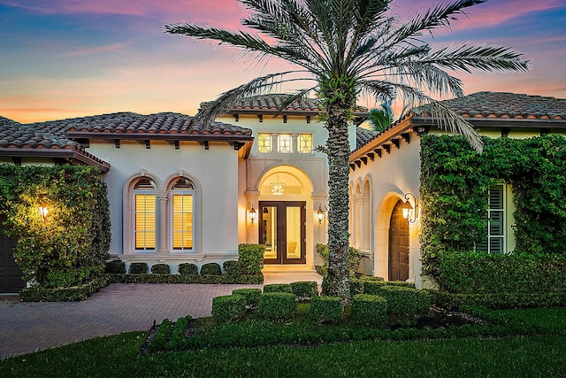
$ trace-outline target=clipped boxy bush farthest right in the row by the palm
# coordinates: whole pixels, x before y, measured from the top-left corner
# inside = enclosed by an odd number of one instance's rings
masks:
[[[387,300],[387,317],[392,324],[412,326],[430,311],[431,297],[425,290],[386,285],[379,291]]]

